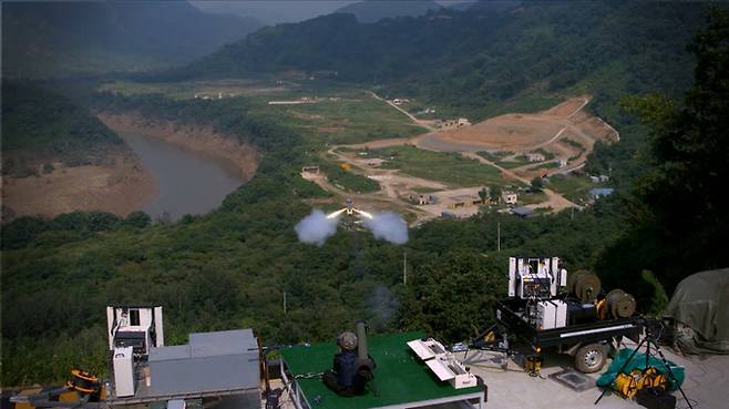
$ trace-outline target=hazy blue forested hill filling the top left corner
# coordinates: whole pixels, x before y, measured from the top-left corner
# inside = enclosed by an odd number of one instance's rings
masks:
[[[186,1],[3,2],[3,76],[187,63],[261,25],[206,14]]]

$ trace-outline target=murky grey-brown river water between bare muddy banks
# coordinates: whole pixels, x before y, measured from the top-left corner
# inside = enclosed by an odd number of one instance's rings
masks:
[[[157,194],[142,211],[153,219],[166,212],[173,219],[204,214],[245,181],[213,159],[162,140],[134,133],[120,136],[157,181]]]

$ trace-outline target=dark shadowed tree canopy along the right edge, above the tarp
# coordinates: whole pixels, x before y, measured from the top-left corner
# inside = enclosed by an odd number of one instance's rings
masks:
[[[604,259],[616,279],[648,267],[672,288],[690,273],[729,265],[728,16],[713,9],[695,35],[695,83],[681,102],[649,95],[627,103],[650,129],[650,168],[626,204],[634,228]]]

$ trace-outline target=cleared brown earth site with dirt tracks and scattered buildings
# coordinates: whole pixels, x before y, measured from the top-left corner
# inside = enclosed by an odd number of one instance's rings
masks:
[[[444,129],[429,123],[431,132],[409,139],[328,147],[325,160],[376,181],[380,185],[378,192],[361,193],[337,186],[328,183],[324,172],[301,175],[338,196],[405,208],[417,222],[468,217],[478,213],[481,205],[506,209],[523,205],[531,211],[547,212],[579,208],[582,204],[548,187],[532,194],[528,186],[535,177],[579,171],[598,141],[619,141],[619,134],[609,124],[585,112],[589,101],[587,95],[575,96],[543,112],[504,114],[473,125],[464,121],[463,125]],[[389,104],[405,112],[392,102]],[[410,159],[420,161],[417,167],[403,163]],[[482,191],[491,186],[522,194],[514,202],[501,201],[500,194],[489,200],[482,197]]]

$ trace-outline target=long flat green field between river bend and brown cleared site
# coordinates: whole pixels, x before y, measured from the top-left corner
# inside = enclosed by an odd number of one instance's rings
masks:
[[[333,82],[278,82],[274,76],[176,83],[114,81],[104,83],[100,90],[123,95],[163,94],[174,100],[189,100],[197,94],[212,98],[211,103],[217,103],[219,94],[223,101],[245,96],[257,113],[298,129],[315,145],[361,143],[427,132],[366,90]],[[268,104],[301,98],[316,103]]]

